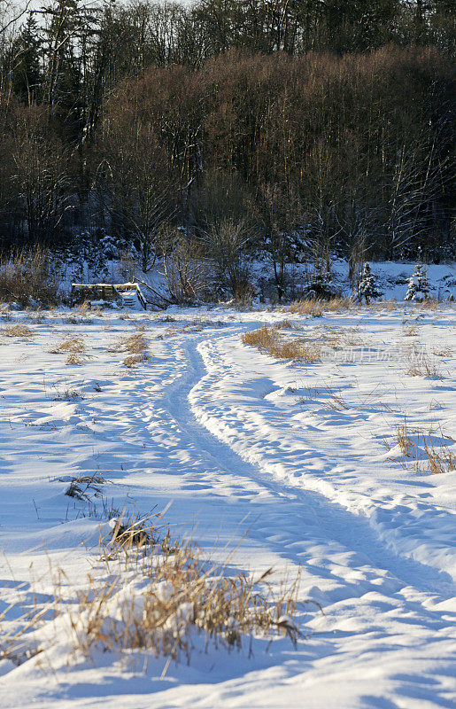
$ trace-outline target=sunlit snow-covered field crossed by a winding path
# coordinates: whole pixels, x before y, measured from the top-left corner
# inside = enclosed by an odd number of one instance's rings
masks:
[[[106,501],[166,511],[204,549],[276,577],[301,567],[309,607],[282,637],[133,668],[108,652],[68,662],[66,639],[0,661],[12,707],[424,709],[456,701],[452,465],[456,311],[416,305],[322,317],[280,309],[12,312],[0,330],[0,621],[12,630],[52,594],[87,585]],[[171,320],[173,318],[173,320]],[[282,323],[286,319],[288,322]],[[145,327],[151,359],[128,369],[112,343]],[[282,323],[314,363],[272,359],[241,336]],[[29,336],[9,336],[14,324]],[[66,336],[80,364],[50,349]],[[77,358],[76,358],[77,359]],[[428,370],[426,370],[426,365]],[[408,456],[398,446],[405,425]],[[428,452],[427,452],[427,450]],[[109,480],[91,504],[68,480]],[[43,638],[49,627],[43,623]],[[49,643],[48,643],[49,645]]]

